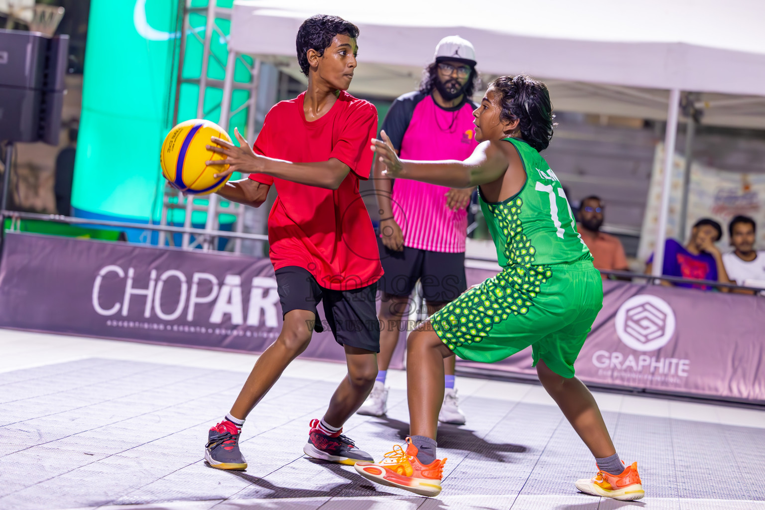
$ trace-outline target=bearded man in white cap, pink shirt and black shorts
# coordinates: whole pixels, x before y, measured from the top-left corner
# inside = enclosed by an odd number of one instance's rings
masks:
[[[382,130],[403,159],[462,161],[477,145],[474,137],[473,96],[478,75],[473,44],[462,37],[444,37],[435,50],[435,61],[423,71],[419,90],[393,102]],[[379,320],[379,369],[372,393],[359,414],[382,416],[387,411],[386,372],[399,341],[398,326],[409,313],[409,296],[417,281],[428,306],[435,313],[467,289],[465,238],[467,204],[473,188],[462,190],[415,180],[382,177],[382,164],[374,166],[374,183],[380,213],[379,250],[385,274]],[[393,327],[391,327],[393,326]],[[444,359],[446,392],[438,420],[464,424],[465,416],[454,389],[454,356]]]

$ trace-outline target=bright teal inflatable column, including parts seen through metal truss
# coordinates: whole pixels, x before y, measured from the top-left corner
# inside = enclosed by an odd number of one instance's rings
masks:
[[[179,34],[175,32],[177,0],[91,0],[72,206],[75,216],[158,222],[164,179],[159,152],[167,135],[173,109],[177,61],[173,58]],[[230,7],[232,0],[219,0]],[[194,0],[193,7],[207,5]],[[206,18],[189,17],[184,78],[199,78]],[[216,20],[207,76],[223,80],[226,37],[230,22]],[[252,59],[237,62],[235,81],[249,82]],[[221,65],[223,64],[223,65]],[[205,119],[220,120],[220,89],[208,88]],[[181,87],[179,122],[197,117],[199,86]],[[232,109],[249,99],[249,92],[233,94]],[[231,118],[229,131],[244,131],[246,109]],[[196,199],[204,204],[207,200]],[[225,204],[224,204],[225,206]],[[177,211],[171,223],[183,223]],[[193,223],[203,225],[205,213],[195,212]],[[233,216],[221,215],[221,223]],[[135,231],[139,232],[139,231]],[[132,238],[133,236],[131,236]],[[138,240],[138,239],[131,239]]]

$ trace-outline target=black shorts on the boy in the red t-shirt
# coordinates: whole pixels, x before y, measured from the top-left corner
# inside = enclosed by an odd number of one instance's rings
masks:
[[[314,312],[314,331],[321,333],[316,305],[324,305],[324,317],[341,346],[358,347],[380,352],[380,330],[375,297],[377,284],[350,291],[333,291],[321,287],[308,270],[291,265],[275,271],[282,317],[292,310]]]

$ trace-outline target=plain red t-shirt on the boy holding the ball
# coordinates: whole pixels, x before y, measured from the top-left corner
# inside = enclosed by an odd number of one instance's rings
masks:
[[[372,168],[369,145],[377,134],[377,110],[368,101],[340,92],[329,112],[308,122],[304,96],[279,102],[269,111],[254,151],[296,163],[336,158],[350,172],[337,190],[265,174],[249,176],[274,184],[278,193],[269,214],[269,256],[274,269],[305,268],[322,287],[366,287],[382,276],[372,220],[359,193],[359,179],[369,179]]]

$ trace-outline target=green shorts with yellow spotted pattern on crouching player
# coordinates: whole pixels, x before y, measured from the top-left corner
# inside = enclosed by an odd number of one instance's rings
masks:
[[[574,377],[584,339],[603,307],[592,261],[508,266],[430,317],[441,341],[462,359],[496,362],[532,346],[534,366]]]

